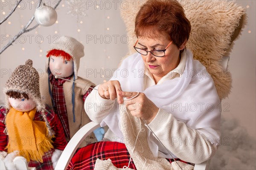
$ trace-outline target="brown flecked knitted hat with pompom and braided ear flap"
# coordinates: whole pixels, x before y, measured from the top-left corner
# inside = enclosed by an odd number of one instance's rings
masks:
[[[41,112],[41,115],[46,123],[48,137],[52,137],[54,132],[46,118],[45,105],[41,102],[41,95],[39,90],[39,74],[36,69],[32,67],[32,64],[32,60],[28,59],[25,65],[19,65],[11,75],[10,79],[7,80],[6,88],[4,88],[3,92],[6,94],[9,91],[15,91],[30,95],[32,100],[36,103],[37,111]],[[7,109],[9,109],[10,103],[7,95],[6,102]]]

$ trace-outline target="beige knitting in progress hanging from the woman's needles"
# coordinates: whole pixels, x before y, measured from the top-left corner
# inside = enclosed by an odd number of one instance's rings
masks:
[[[124,136],[124,143],[127,147],[137,170],[193,170],[194,166],[181,161],[169,163],[163,157],[154,157],[148,147],[146,126],[143,121],[131,115],[125,108],[125,104],[120,105],[120,124]],[[177,165],[180,165],[180,167]],[[127,165],[128,166],[128,165]],[[111,160],[102,161],[97,159],[95,170],[118,170],[111,163]]]

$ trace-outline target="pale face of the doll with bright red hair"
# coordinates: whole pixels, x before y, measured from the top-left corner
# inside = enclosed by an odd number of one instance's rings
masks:
[[[54,76],[61,78],[69,77],[73,74],[73,59],[69,61],[62,59],[62,57],[50,56],[49,68]]]

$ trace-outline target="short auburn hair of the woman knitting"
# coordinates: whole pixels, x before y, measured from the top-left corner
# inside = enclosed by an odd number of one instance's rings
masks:
[[[190,22],[176,0],[148,0],[135,19],[137,37],[156,38],[162,34],[178,48],[189,39],[190,31]]]

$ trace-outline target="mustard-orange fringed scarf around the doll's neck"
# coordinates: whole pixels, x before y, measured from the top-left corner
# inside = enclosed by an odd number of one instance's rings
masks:
[[[20,156],[27,161],[43,162],[44,153],[51,150],[52,140],[47,137],[45,122],[35,121],[36,108],[29,112],[11,108],[6,116],[9,135],[8,153],[19,150]]]

